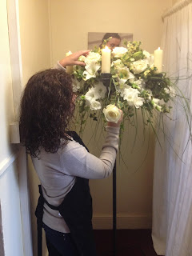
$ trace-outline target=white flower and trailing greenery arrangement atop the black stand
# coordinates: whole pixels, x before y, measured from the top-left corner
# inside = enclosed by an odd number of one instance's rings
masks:
[[[124,122],[131,124],[138,110],[142,110],[145,125],[153,125],[154,111],[170,113],[170,101],[176,95],[174,83],[166,73],[158,72],[153,55],[142,50],[141,42],[125,42],[125,47],[114,48],[110,56],[108,86],[102,81],[101,48],[95,47],[88,56],[79,58],[86,66],[73,67],[80,133],[87,118],[118,122],[114,106],[122,110]]]

